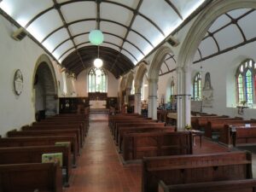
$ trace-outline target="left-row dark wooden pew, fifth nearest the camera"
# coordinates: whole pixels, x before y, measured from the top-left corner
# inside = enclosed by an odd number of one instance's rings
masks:
[[[83,147],[84,144],[84,133],[80,126],[74,126],[74,125],[32,125],[32,126],[22,126],[22,131],[50,131],[50,130],[75,130],[78,131],[79,139],[81,141],[81,147]]]

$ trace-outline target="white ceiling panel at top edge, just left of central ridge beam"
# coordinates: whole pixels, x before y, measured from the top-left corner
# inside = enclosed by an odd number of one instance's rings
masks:
[[[68,3],[61,6],[61,12],[67,23],[84,18],[96,18],[95,2]]]

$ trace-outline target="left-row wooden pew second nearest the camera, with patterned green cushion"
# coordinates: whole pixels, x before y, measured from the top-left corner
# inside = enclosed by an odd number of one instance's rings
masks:
[[[66,170],[64,185],[69,186],[68,180],[71,175],[72,160],[70,146],[31,146],[0,148],[0,165],[22,164],[22,163],[41,163],[42,154],[62,153],[62,168]]]

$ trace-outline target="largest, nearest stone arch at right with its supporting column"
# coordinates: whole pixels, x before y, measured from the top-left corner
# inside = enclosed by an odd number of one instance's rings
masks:
[[[177,94],[189,94],[191,87],[191,74],[189,67],[193,63],[196,49],[204,38],[207,30],[214,20],[220,15],[234,9],[256,9],[255,0],[216,0],[212,1],[195,19],[189,29],[188,35],[183,40],[181,49],[177,56]],[[177,111],[177,129],[182,129],[184,125],[190,125],[190,102],[189,96],[177,103],[180,110]]]

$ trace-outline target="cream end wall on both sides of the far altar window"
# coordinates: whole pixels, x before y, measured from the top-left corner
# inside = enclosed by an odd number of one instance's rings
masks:
[[[75,89],[77,96],[88,96],[87,91],[87,73],[89,70],[84,70],[79,73],[75,81]],[[118,96],[119,79],[116,79],[112,73],[108,72],[108,96]]]

